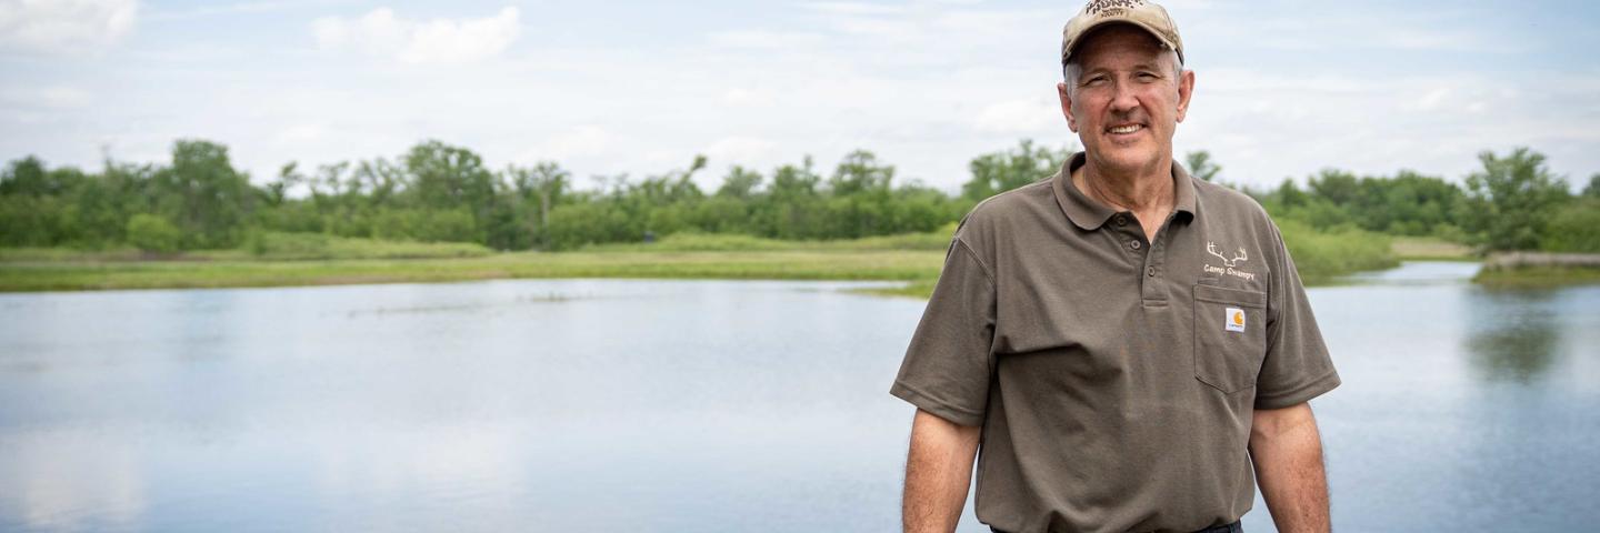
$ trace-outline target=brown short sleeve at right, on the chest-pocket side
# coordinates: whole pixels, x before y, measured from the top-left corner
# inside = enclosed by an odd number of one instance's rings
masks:
[[[1277,224],[1272,237],[1280,259],[1272,267],[1267,357],[1256,378],[1258,410],[1304,403],[1339,386],[1339,373],[1328,357],[1328,346],[1322,341],[1317,317],[1306,299],[1306,287]]]

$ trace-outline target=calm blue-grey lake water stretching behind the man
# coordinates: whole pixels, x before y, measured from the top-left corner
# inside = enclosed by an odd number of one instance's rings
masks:
[[[1475,269],[1310,291],[1336,528],[1600,523],[1600,287]],[[0,295],[0,531],[893,531],[923,303],[853,287]]]

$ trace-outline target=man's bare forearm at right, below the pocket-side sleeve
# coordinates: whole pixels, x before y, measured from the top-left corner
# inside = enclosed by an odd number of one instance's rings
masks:
[[[1322,437],[1310,403],[1282,410],[1256,410],[1250,426],[1250,458],[1256,464],[1261,496],[1282,533],[1325,533],[1328,477],[1322,464]]]

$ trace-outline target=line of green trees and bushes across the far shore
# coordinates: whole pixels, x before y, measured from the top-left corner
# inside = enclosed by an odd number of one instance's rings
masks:
[[[106,160],[99,171],[48,168],[37,157],[0,174],[0,246],[237,248],[262,232],[381,240],[472,242],[494,250],[571,250],[674,232],[827,240],[928,232],[982,198],[1053,174],[1070,154],[1021,141],[974,157],[958,194],[896,181],[894,166],[854,150],[830,170],[806,157],[768,173],[731,166],[715,190],[693,179],[706,157],[661,174],[592,176],[579,189],[555,162],[493,170],[470,149],[424,141],[395,158],[302,168],[264,184],[232,166],[227,147],[176,141],[166,163]],[[1437,235],[1485,250],[1600,251],[1600,174],[1581,194],[1530,149],[1483,152],[1464,186],[1400,171],[1325,170],[1306,186],[1240,187],[1274,216],[1317,229]],[[1226,182],[1208,152],[1184,163]],[[1576,229],[1576,232],[1573,232]]]

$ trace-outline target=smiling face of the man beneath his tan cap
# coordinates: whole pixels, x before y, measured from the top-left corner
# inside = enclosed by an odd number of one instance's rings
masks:
[[[1178,75],[1176,58],[1133,26],[1090,35],[1075,51],[1075,86],[1058,85],[1061,110],[1096,166],[1115,173],[1160,171],[1184,120],[1194,72]],[[1069,91],[1070,90],[1070,91]]]

